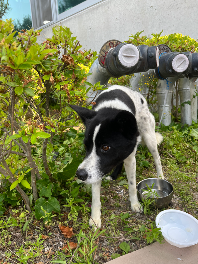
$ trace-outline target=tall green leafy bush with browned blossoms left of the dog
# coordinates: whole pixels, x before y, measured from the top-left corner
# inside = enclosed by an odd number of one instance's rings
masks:
[[[67,27],[56,25],[40,44],[41,30],[14,37],[13,27],[11,19],[0,21],[0,211],[3,202],[16,206],[23,199],[28,211],[37,201],[38,210],[59,212],[61,183],[72,182],[83,157],[81,124],[70,104],[86,105],[85,67],[96,52],[82,51]],[[61,155],[56,165],[54,152]]]

